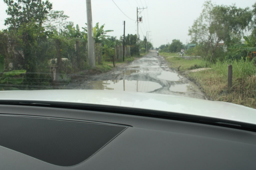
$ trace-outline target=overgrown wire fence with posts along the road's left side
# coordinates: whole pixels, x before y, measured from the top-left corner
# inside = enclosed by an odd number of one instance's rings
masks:
[[[95,44],[96,64],[102,64],[101,44]],[[38,38],[22,43],[1,33],[0,90],[58,88],[71,81],[73,73],[88,69],[87,42],[72,38]],[[26,73],[13,73],[26,70]],[[22,83],[21,83],[22,82]]]

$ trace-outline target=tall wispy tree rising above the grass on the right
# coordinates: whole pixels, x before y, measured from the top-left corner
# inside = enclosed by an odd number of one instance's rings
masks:
[[[192,41],[206,44],[205,48],[211,49],[212,61],[219,43],[223,41],[226,46],[237,43],[251,19],[249,8],[215,5],[206,1],[202,13],[189,28],[189,35]]]

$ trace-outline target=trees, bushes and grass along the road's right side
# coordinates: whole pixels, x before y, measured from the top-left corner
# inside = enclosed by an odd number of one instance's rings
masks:
[[[256,3],[251,10],[205,1],[200,16],[189,28],[190,44],[196,47],[186,50],[187,55],[201,58],[170,57],[175,54],[165,52],[170,52],[171,45],[162,45],[160,55],[171,63],[170,67],[198,82],[210,99],[256,108],[255,33]],[[227,82],[228,65],[233,66],[231,89]],[[211,69],[189,71],[198,68]]]

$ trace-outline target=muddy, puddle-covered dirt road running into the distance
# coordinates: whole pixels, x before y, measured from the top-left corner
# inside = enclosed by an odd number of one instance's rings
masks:
[[[164,58],[155,52],[91,76],[76,89],[138,91],[206,99],[195,83],[170,69]]]

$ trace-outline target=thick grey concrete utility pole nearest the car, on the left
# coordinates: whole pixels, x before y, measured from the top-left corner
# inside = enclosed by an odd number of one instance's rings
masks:
[[[86,0],[87,12],[87,36],[88,36],[88,58],[89,66],[95,67],[94,39],[93,39],[93,18],[91,15],[91,0]]]

